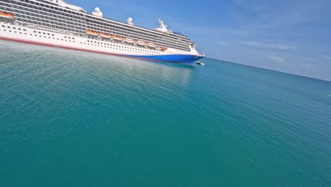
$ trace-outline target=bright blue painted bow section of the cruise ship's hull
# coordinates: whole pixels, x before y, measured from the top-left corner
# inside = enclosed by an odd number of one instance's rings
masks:
[[[161,62],[175,62],[181,64],[193,64],[199,59],[202,59],[204,56],[196,55],[129,55],[129,57],[134,57],[144,60],[153,60]]]

